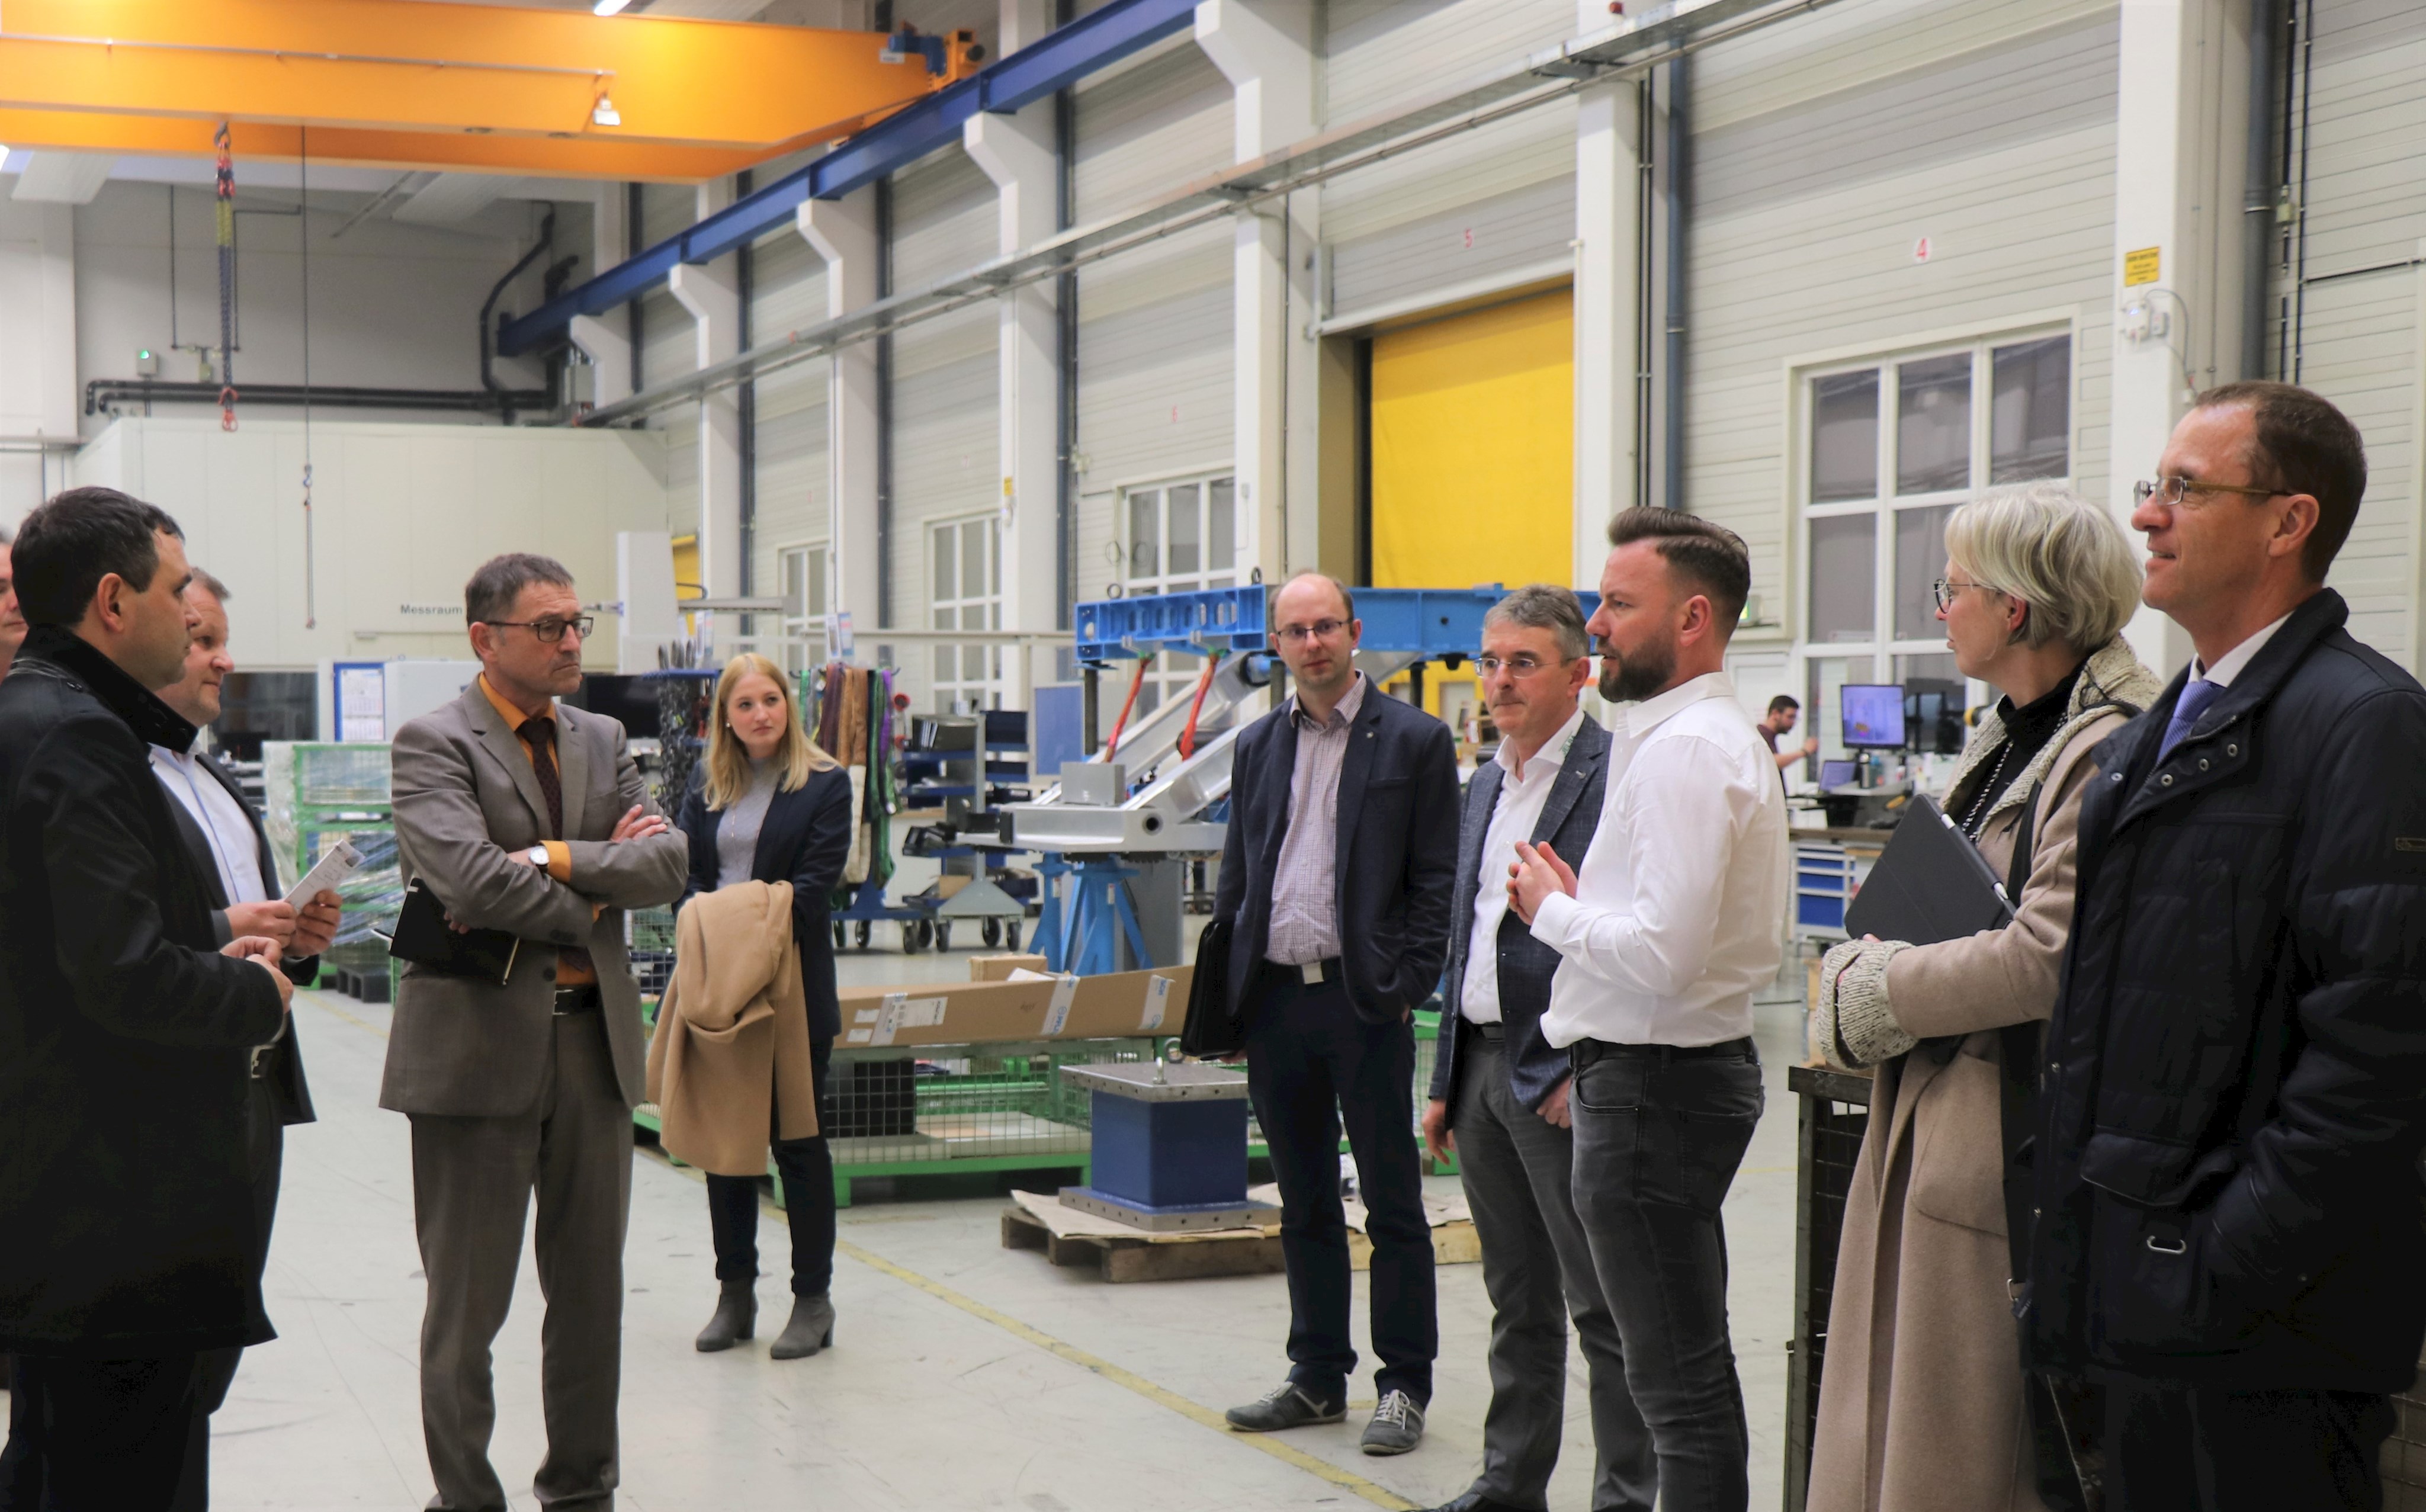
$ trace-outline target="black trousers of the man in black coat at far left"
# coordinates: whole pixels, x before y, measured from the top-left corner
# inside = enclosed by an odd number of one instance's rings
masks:
[[[17,1354],[7,1383],[0,1512],[165,1512],[201,1398],[194,1357]]]

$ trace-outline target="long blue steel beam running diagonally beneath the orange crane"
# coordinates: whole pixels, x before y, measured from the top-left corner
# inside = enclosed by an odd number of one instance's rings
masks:
[[[522,357],[573,325],[575,316],[604,316],[619,303],[648,294],[684,262],[723,257],[742,243],[776,231],[810,199],[842,199],[861,184],[961,141],[963,124],[978,112],[1009,114],[1033,104],[1194,22],[1196,0],[1111,0],[1111,5],[1046,34],[1033,46],[1024,46],[1009,58],[885,116],[808,167],[784,175],[757,194],[735,199],[699,226],[609,267],[529,316],[505,320],[497,328],[497,352]]]

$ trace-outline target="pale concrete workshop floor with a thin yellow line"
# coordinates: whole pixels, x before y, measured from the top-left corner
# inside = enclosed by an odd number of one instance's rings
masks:
[[[847,980],[963,978],[953,956],[847,956]],[[1795,1005],[1761,1010],[1769,1116],[1727,1201],[1735,1347],[1752,1412],[1752,1505],[1776,1507],[1793,1289],[1795,1109],[1786,1063]],[[378,1112],[386,1010],[296,995],[320,1121],[289,1131],[269,1260],[281,1337],[252,1349],[213,1420],[218,1507],[417,1507],[427,1502],[415,1340],[422,1318],[405,1119]],[[1453,1182],[1456,1177],[1431,1177]],[[873,1189],[871,1189],[873,1187]],[[623,1315],[623,1507],[1026,1512],[1189,1507],[1429,1507],[1480,1466],[1490,1303],[1482,1269],[1441,1269],[1431,1427],[1402,1459],[1356,1451],[1361,1422],[1230,1434],[1220,1410],[1286,1374],[1281,1277],[1106,1286],[1002,1250],[997,1189],[861,1184],[842,1216],[835,1347],[769,1362],[786,1291],[762,1279],[759,1340],[699,1354],[713,1306],[708,1221],[694,1172],[633,1170]],[[764,1255],[784,1255],[767,1213]],[[1356,1335],[1363,1340],[1359,1277]],[[536,1507],[539,1281],[497,1340],[495,1463]],[[1579,1366],[1577,1366],[1579,1369]],[[1371,1359],[1351,1396],[1371,1405]],[[1582,1510],[1589,1422],[1570,1393],[1553,1507]]]

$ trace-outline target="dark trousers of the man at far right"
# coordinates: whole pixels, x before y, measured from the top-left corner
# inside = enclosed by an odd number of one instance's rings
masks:
[[[2106,1376],[2106,1512],[2377,1512],[2392,1398]]]

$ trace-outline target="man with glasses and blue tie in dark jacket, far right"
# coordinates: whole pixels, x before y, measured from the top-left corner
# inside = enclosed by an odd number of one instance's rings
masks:
[[[2113,1512],[2380,1507],[2416,1376],[2426,689],[2324,587],[2363,490],[2334,405],[2229,383],[2132,515],[2198,658],[2082,811],[2026,1306]]]

